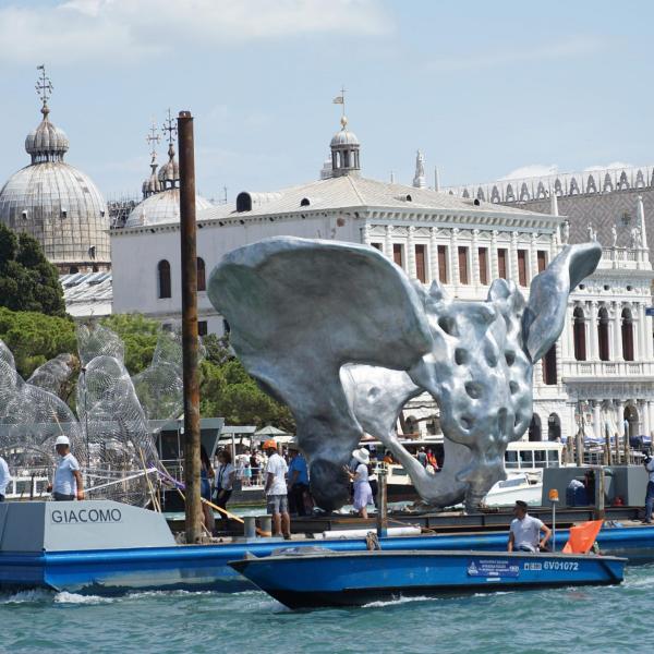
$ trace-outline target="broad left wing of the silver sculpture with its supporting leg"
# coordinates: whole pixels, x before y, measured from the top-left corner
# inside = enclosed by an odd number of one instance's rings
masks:
[[[290,237],[231,252],[208,288],[247,372],[292,410],[312,461],[313,491],[322,495],[320,480],[334,486],[362,435],[340,367],[408,370],[428,352],[432,337],[417,292],[373,247]],[[323,508],[339,501],[316,499]]]

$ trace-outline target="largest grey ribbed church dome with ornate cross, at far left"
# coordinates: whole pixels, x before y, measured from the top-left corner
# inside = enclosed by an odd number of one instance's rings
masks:
[[[48,118],[52,86],[45,71],[37,89],[44,118],[25,138],[32,164],[0,190],[0,221],[32,234],[62,272],[108,269],[107,204],[88,175],[63,161],[69,140]]]

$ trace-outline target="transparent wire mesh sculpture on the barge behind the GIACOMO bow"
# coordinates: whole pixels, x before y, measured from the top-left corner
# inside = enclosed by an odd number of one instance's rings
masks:
[[[88,497],[145,505],[146,474],[159,465],[148,421],[175,419],[183,408],[180,334],[161,330],[150,366],[134,378],[123,342],[107,327],[81,325],[77,347],[75,416],[58,397],[76,370],[75,358],[61,354],[24,382],[0,341],[0,452],[14,475],[50,476],[55,439],[64,434],[84,469]]]

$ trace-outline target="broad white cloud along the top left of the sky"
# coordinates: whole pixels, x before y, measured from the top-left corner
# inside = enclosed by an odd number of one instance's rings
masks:
[[[0,9],[0,62],[131,62],[181,46],[393,28],[374,0],[68,0]]]

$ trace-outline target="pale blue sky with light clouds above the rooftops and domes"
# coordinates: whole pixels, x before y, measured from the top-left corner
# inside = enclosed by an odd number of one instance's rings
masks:
[[[441,185],[651,165],[653,35],[647,0],[0,0],[0,184],[43,63],[66,161],[108,198],[140,195],[169,108],[206,197],[313,181],[342,86],[365,177],[410,184],[417,148]]]

